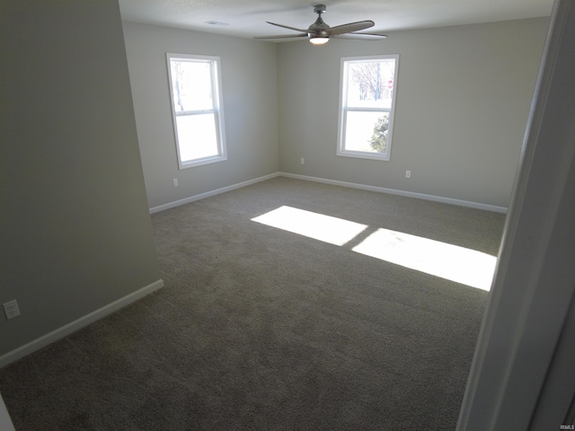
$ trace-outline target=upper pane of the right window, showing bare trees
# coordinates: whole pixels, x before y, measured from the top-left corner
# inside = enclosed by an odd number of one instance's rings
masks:
[[[348,106],[391,109],[394,71],[394,59],[349,63]]]

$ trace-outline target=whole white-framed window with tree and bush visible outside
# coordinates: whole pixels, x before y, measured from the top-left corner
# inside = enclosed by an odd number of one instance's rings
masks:
[[[398,55],[341,58],[338,155],[389,160]]]

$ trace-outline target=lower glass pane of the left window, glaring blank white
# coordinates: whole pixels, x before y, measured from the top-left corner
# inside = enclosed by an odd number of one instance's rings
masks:
[[[178,116],[176,121],[182,163],[219,155],[216,114]]]

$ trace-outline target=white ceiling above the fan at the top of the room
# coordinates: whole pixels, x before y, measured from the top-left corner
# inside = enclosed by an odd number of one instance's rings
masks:
[[[252,38],[290,33],[266,21],[306,29],[318,3],[327,5],[329,25],[372,20],[370,32],[549,16],[553,7],[553,0],[119,0],[119,8],[124,21]]]

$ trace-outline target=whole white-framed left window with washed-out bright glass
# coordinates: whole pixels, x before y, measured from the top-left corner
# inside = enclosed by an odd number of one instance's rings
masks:
[[[180,169],[226,160],[219,58],[167,54]]]

